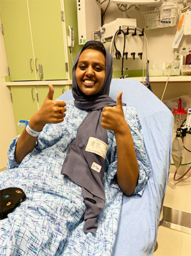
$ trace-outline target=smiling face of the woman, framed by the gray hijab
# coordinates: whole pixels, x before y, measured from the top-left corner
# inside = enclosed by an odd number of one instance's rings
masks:
[[[85,95],[97,94],[106,76],[106,57],[98,50],[84,50],[76,67],[76,83]]]

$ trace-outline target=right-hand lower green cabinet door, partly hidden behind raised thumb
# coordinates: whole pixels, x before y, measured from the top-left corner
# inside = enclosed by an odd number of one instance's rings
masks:
[[[53,89],[53,100],[56,100],[56,98],[60,97],[65,91],[67,91],[67,85],[54,85]],[[42,104],[44,103],[44,100],[49,92],[49,86],[37,86],[37,90],[39,107],[42,107]]]

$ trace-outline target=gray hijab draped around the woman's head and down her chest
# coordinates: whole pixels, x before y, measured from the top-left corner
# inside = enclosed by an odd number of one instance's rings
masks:
[[[81,52],[90,44],[101,44],[97,41],[88,41]],[[102,44],[101,44],[102,45]],[[105,171],[105,159],[97,153],[85,151],[90,137],[108,143],[106,130],[101,126],[101,110],[105,106],[114,107],[116,102],[108,96],[110,82],[113,75],[113,57],[106,51],[106,77],[101,90],[96,95],[86,96],[76,84],[76,66],[79,52],[74,60],[72,70],[72,93],[74,105],[81,110],[88,111],[87,116],[78,127],[76,139],[69,147],[61,173],[69,176],[74,183],[81,186],[86,206],[84,220],[84,232],[96,234],[97,218],[105,205],[105,192],[103,188],[103,173]],[[101,171],[92,169],[93,163],[101,166]]]

